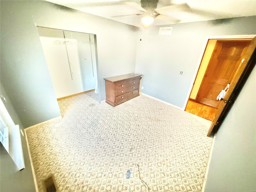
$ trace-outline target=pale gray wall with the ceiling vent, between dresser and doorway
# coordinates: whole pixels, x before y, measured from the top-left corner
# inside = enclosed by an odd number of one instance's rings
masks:
[[[206,36],[256,34],[256,16],[168,26],[172,35],[159,36],[154,26],[137,38],[135,71],[144,75],[142,93],[183,108]]]

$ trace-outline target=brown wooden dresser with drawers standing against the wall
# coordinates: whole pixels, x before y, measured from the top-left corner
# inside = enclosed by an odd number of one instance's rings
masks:
[[[114,107],[139,96],[141,76],[140,74],[130,73],[104,78],[106,85],[106,103]]]

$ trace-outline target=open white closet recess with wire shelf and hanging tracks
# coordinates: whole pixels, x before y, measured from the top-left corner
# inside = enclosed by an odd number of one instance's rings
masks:
[[[94,92],[100,102],[96,35],[38,26],[57,100]]]

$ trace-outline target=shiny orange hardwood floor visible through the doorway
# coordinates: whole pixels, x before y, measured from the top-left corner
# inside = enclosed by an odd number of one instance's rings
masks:
[[[204,105],[190,99],[188,100],[188,104],[185,109],[186,112],[189,112],[191,114],[194,114],[196,116],[202,117],[210,121],[213,121],[217,110],[218,108]]]

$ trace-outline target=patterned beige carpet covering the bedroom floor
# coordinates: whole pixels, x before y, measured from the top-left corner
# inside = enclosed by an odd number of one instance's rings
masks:
[[[208,120],[146,96],[112,107],[90,92],[59,105],[62,120],[26,131],[40,192],[50,174],[60,192],[201,191]]]

